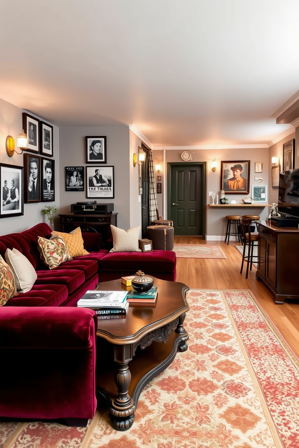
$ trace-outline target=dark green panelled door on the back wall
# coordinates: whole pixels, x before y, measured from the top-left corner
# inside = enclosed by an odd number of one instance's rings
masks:
[[[205,163],[168,164],[168,216],[174,235],[205,238]]]

